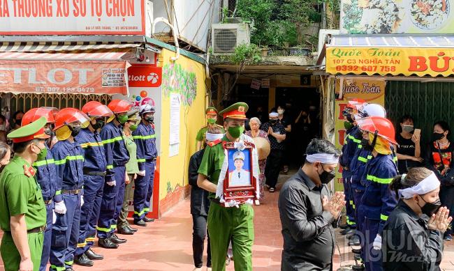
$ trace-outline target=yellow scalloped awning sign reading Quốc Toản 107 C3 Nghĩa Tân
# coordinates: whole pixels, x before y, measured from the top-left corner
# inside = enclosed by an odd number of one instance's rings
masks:
[[[331,74],[450,76],[454,48],[328,47],[326,71]]]

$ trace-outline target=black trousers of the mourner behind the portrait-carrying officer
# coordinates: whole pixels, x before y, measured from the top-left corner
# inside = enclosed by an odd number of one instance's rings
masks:
[[[210,235],[207,232],[207,216],[206,215],[192,215],[193,233],[192,233],[192,252],[194,258],[194,265],[196,268],[203,266],[203,247],[205,237],[207,240],[207,267],[211,268],[211,250],[210,250]]]

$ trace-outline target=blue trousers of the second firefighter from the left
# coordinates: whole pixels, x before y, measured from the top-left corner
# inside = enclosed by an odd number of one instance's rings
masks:
[[[66,205],[66,214],[57,214],[57,221],[52,227],[50,248],[50,269],[57,271],[72,268],[80,226],[80,194],[61,195]]]

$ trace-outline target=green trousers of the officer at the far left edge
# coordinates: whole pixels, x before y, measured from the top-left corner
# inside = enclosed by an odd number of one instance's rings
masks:
[[[43,252],[44,233],[29,233],[29,247],[33,270],[38,271],[41,264],[41,254]],[[0,247],[1,258],[6,271],[17,271],[20,265],[20,254],[14,245],[13,236],[10,232],[3,233]]]

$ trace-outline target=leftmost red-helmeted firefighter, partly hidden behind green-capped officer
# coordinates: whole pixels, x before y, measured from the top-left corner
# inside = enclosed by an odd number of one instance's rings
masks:
[[[41,117],[45,117],[46,124],[44,126],[44,132],[50,137],[49,139],[46,139],[45,148],[47,149],[47,154],[45,158],[43,160],[38,160],[33,164],[37,170],[35,178],[41,186],[47,215],[47,226],[44,232],[43,254],[41,256],[41,265],[39,268],[40,271],[45,271],[47,269],[47,262],[49,261],[50,240],[52,238],[52,219],[54,217],[54,197],[57,193],[57,184],[54,179],[54,176],[56,175],[54,157],[52,156],[49,148],[50,141],[52,141],[52,129],[55,123],[54,114],[57,114],[57,112],[58,110],[56,108],[40,107],[30,109],[22,117],[22,126],[38,121]]]

